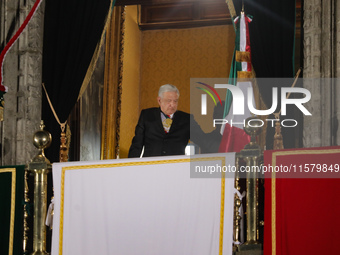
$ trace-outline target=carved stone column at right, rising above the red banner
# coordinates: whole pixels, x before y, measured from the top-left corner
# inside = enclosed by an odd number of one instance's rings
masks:
[[[304,147],[339,144],[338,119],[340,107],[336,102],[340,95],[334,80],[320,84],[315,78],[333,78],[340,74],[339,22],[337,0],[304,1],[304,87],[312,93],[306,104],[313,116],[304,117]],[[310,78],[310,79],[309,79]],[[311,79],[313,81],[311,81]],[[307,79],[306,79],[307,80]]]

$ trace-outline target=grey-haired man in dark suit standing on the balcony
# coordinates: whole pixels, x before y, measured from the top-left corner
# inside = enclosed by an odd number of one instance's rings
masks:
[[[142,110],[129,150],[129,158],[184,155],[190,138],[190,115],[177,111],[178,89],[171,84],[160,87],[159,107]]]

